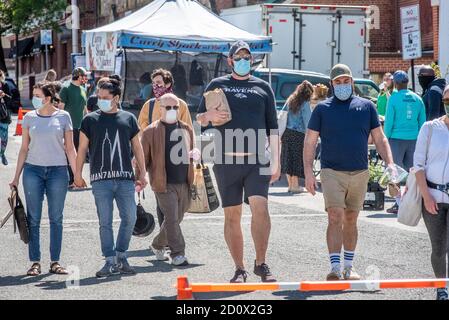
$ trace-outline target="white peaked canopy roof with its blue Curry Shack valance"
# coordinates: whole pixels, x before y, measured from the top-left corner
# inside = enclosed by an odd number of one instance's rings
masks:
[[[222,20],[196,0],[155,0],[129,16],[89,33],[117,33],[119,48],[227,53],[237,40],[254,53],[271,52],[271,38]]]

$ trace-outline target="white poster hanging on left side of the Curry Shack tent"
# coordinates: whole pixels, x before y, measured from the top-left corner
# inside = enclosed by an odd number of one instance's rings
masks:
[[[86,68],[91,71],[114,71],[117,51],[115,32],[86,34]]]

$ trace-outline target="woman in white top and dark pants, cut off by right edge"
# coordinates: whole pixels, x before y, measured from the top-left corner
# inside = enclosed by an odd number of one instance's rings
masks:
[[[437,278],[449,277],[449,86],[443,94],[446,115],[426,122],[416,144],[414,167],[424,199],[423,218],[432,243],[432,267]],[[447,288],[437,289],[448,300]]]

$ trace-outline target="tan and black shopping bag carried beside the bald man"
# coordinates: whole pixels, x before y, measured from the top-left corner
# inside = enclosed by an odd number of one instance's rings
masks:
[[[204,164],[198,164],[194,169],[190,196],[190,213],[210,213],[220,206],[209,168]]]

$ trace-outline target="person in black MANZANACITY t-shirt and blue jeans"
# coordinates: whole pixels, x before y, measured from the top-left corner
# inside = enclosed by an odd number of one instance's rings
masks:
[[[135,188],[143,189],[147,184],[137,119],[119,110],[120,95],[120,82],[115,79],[100,86],[100,110],[89,113],[81,123],[76,160],[75,185],[83,187],[83,165],[89,149],[90,181],[100,222],[101,250],[106,258],[106,264],[96,274],[98,278],[135,273],[127,261],[126,251],[136,224]],[[137,180],[131,163],[133,154],[141,168]],[[116,244],[112,230],[114,200],[121,219]]]

